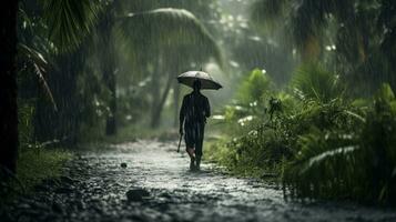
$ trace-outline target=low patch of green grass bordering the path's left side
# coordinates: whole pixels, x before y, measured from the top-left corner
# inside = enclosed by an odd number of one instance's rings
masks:
[[[33,190],[43,180],[62,175],[62,165],[73,158],[62,149],[22,149],[18,158],[16,179],[1,184],[0,204]]]

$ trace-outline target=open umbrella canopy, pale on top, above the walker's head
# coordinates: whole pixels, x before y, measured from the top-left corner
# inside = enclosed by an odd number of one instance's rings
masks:
[[[193,88],[195,80],[201,81],[201,89],[203,90],[219,90],[223,88],[209,73],[203,71],[187,71],[177,77],[179,83]]]

